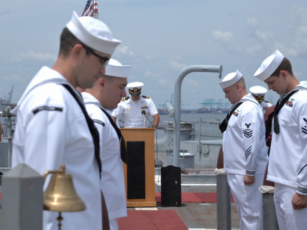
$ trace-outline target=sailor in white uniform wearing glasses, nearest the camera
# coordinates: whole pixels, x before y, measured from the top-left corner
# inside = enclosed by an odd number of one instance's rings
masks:
[[[65,164],[86,210],[62,212],[62,228],[102,229],[98,132],[75,87],[93,85],[120,41],[100,20],[73,12],[60,43],[55,65],[39,70],[12,110],[17,114],[12,167],[25,163],[43,175]],[[48,184],[49,177],[44,190]],[[57,216],[44,211],[43,229],[57,229]]]

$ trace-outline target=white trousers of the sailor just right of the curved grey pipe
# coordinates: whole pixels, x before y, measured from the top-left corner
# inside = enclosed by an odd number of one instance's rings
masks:
[[[227,173],[227,181],[232,191],[240,219],[240,230],[262,229],[262,193],[264,173],[255,175],[255,182],[245,185],[243,175]]]

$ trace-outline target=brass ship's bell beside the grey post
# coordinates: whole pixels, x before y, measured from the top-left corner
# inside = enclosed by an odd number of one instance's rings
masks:
[[[75,212],[85,210],[85,204],[76,193],[72,176],[65,173],[65,165],[60,170],[46,171],[52,173],[49,185],[44,193],[44,210],[56,212]]]

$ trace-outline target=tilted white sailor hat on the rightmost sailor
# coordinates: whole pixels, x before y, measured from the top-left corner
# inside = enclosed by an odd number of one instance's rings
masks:
[[[274,73],[280,63],[282,63],[283,59],[284,55],[282,55],[278,50],[275,50],[270,57],[266,58],[261,63],[260,68],[256,71],[254,76],[262,81],[266,80],[272,73]]]

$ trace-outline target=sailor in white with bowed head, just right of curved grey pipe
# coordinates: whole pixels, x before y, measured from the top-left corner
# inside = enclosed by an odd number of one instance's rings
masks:
[[[233,104],[221,123],[224,172],[240,219],[240,229],[262,229],[262,194],[267,165],[262,107],[247,94],[242,74],[229,73],[219,83]]]

